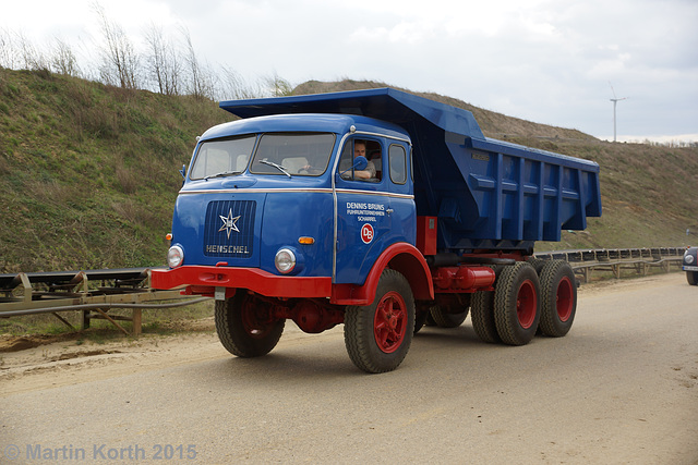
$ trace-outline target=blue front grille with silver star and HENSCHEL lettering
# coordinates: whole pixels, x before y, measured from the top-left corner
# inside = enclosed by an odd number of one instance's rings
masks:
[[[212,201],[206,208],[204,255],[249,258],[254,244],[254,200]]]

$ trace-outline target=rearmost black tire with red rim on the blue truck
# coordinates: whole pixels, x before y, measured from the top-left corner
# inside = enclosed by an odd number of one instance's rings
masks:
[[[577,279],[569,264],[553,260],[540,273],[541,320],[545,335],[562,338],[569,332],[577,311]]]

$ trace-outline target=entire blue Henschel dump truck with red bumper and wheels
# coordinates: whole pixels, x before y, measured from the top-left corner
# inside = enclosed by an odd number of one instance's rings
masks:
[[[287,319],[344,323],[368,372],[468,311],[492,343],[569,331],[573,270],[533,244],[601,215],[597,163],[485,137],[469,111],[393,88],[220,108],[240,120],[198,138],[152,285],[215,297],[232,354],[267,354]]]

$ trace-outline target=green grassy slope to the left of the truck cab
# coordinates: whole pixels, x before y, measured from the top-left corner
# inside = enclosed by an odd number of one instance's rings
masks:
[[[213,101],[0,69],[0,272],[165,262]]]

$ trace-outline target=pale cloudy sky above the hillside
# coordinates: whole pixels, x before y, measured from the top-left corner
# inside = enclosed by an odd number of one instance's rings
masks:
[[[0,29],[88,57],[94,0],[5,1]],[[134,42],[184,27],[243,78],[377,81],[618,140],[698,142],[698,0],[103,0]]]

